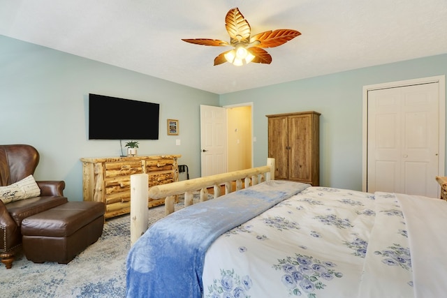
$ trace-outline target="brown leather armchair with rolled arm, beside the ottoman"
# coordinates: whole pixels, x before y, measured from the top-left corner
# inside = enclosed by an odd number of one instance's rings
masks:
[[[8,186],[34,174],[38,151],[27,144],[0,145],[0,186]],[[17,248],[22,244],[20,225],[24,218],[68,202],[64,181],[36,181],[41,195],[3,204],[0,200],[0,258],[10,269]]]

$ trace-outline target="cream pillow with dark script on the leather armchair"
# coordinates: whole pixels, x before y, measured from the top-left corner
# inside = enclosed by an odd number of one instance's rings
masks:
[[[37,185],[33,175],[29,175],[8,186],[0,186],[0,200],[4,204],[35,198],[39,195],[41,195],[41,188]]]

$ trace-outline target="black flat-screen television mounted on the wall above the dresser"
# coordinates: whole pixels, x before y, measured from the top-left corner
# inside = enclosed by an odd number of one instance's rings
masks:
[[[159,103],[89,94],[89,140],[159,140]]]

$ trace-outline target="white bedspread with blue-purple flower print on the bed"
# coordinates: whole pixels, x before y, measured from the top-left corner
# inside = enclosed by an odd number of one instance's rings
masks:
[[[203,297],[417,297],[401,204],[309,187],[214,241]]]

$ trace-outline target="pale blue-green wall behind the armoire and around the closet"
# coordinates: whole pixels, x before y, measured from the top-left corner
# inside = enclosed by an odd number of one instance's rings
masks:
[[[442,54],[224,94],[220,105],[254,103],[254,166],[265,165],[268,156],[266,114],[321,112],[320,184],[361,191],[363,86],[446,72]]]

